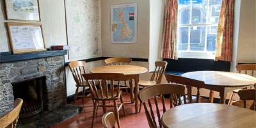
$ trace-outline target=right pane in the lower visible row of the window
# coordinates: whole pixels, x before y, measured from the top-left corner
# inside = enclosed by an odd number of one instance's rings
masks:
[[[214,30],[212,30],[214,29]],[[216,33],[214,33],[216,32]],[[206,50],[214,52],[216,49],[216,35],[217,35],[217,26],[208,26],[207,27],[207,46]]]

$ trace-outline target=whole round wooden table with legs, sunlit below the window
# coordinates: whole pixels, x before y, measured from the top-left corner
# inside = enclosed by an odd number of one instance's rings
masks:
[[[256,84],[256,77],[234,72],[198,71],[188,72],[186,74],[182,74],[182,76],[204,81],[204,88],[211,90],[211,102],[213,102],[213,91],[220,92],[222,104],[225,104],[228,92]]]

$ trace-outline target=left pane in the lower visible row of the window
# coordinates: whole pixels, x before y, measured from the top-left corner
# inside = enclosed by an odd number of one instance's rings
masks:
[[[179,28],[179,51],[188,49],[188,27]]]

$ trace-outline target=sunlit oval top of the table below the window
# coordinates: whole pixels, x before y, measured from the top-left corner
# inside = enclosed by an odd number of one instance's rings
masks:
[[[184,77],[204,81],[206,85],[241,87],[256,84],[256,77],[234,72],[197,71],[182,74]]]

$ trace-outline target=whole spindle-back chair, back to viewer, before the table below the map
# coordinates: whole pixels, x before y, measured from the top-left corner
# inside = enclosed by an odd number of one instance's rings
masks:
[[[97,115],[98,107],[102,107],[104,113],[106,113],[106,107],[113,107],[115,109],[116,122],[118,127],[120,127],[118,111],[122,108],[124,115],[126,116],[122,90],[120,90],[120,81],[132,79],[131,76],[125,76],[124,74],[97,73],[83,74],[83,77],[89,84],[93,99],[92,127],[94,126],[94,119]],[[117,85],[114,84],[115,81],[118,81]],[[99,84],[95,84],[96,82]],[[118,99],[121,100],[121,104],[119,106],[116,102]],[[102,105],[99,105],[99,101],[102,101]],[[107,106],[106,101],[113,101],[114,105]]]

